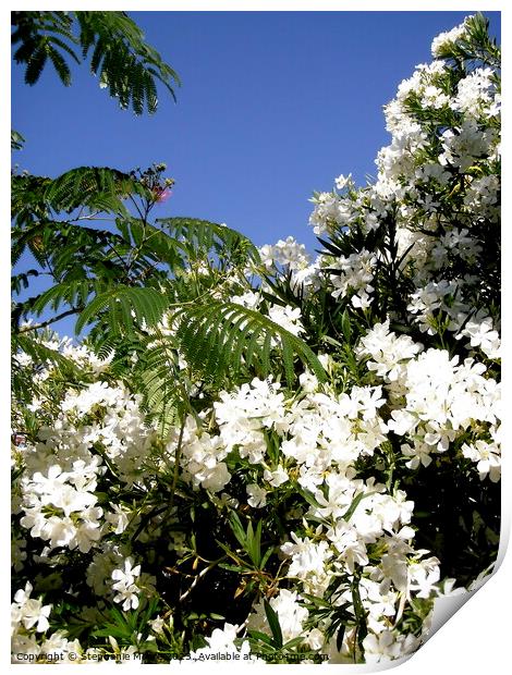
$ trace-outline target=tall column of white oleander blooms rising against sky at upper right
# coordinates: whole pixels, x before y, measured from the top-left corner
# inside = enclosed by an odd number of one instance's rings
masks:
[[[432,53],[467,39],[473,21],[436,38]],[[401,269],[409,266],[416,286],[410,311],[422,330],[438,333],[448,317],[449,330],[470,338],[471,346],[490,359],[499,358],[499,327],[491,310],[478,306],[487,292],[478,270],[486,266],[489,236],[498,241],[499,231],[479,229],[484,219],[499,222],[499,109],[497,73],[490,66],[468,69],[453,81],[444,60],[418,65],[385,108],[391,143],[378,154],[376,183],[342,195],[315,194],[310,217],[315,233],[322,235],[382,230],[380,222],[393,214]],[[350,255],[324,254],[318,262],[320,272],[340,269],[327,277],[334,297],[349,293],[354,307],[367,309],[381,256],[361,246]]]

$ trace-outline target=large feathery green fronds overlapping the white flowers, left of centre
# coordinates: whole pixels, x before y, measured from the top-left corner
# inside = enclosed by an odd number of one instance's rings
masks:
[[[210,388],[229,386],[242,372],[266,377],[278,355],[289,384],[297,357],[322,380],[325,371],[303,340],[229,302],[237,284],[246,287],[240,270],[259,262],[247,237],[193,218],[149,221],[164,185],[162,170],[126,174],[84,167],[57,179],[14,176],[13,259],[28,248],[41,269],[17,274],[13,285],[29,290],[39,273],[53,279],[50,289],[14,305],[15,331],[44,311],[62,312],[45,324],[77,315],[76,332],[88,327],[98,354],[113,352],[120,373],[134,370],[162,429],[175,421],[184,395],[175,386],[179,353],[190,367],[180,378]],[[114,219],[111,230],[95,226],[96,218],[105,217]],[[166,311],[173,336],[156,329]],[[129,360],[133,353],[135,368]]]

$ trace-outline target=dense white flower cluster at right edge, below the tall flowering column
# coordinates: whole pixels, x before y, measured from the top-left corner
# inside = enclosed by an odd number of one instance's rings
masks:
[[[418,352],[420,352],[418,354]],[[463,445],[465,457],[477,462],[481,479],[500,477],[500,385],[484,377],[486,367],[466,358],[450,358],[447,351],[427,349],[377,323],[361,340],[359,356],[369,357],[368,369],[382,378],[389,391],[389,430],[401,437],[401,451],[415,469],[431,463],[431,453],[447,452],[450,444],[483,429],[487,441]]]

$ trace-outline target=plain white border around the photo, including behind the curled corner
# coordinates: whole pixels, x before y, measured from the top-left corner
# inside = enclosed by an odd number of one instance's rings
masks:
[[[98,9],[98,10],[125,10],[125,11],[141,11],[144,9],[145,11],[432,11],[432,12],[446,12],[446,11],[463,11],[467,13],[473,13],[475,11],[501,11],[502,13],[502,33],[504,34],[504,38],[502,37],[502,44],[504,44],[503,50],[503,69],[504,72],[510,72],[510,59],[507,41],[509,36],[509,7],[504,3],[504,1],[500,0],[486,0],[479,1],[475,4],[461,1],[461,0],[429,0],[428,2],[425,0],[416,1],[412,3],[407,0],[389,0],[387,2],[377,1],[377,0],[358,0],[358,1],[333,1],[333,0],[317,0],[316,2],[312,2],[310,0],[260,0],[259,2],[251,2],[247,0],[223,0],[219,2],[211,1],[194,1],[190,0],[185,2],[184,0],[179,2],[151,2],[141,7],[139,2],[134,2],[133,0],[125,0],[124,2],[111,2],[109,0],[103,2],[82,2],[81,0],[75,1],[73,9],[81,9],[82,7],[86,7],[86,9]],[[0,15],[3,19],[2,21],[2,63],[10,64],[10,56],[8,54],[8,49],[10,45],[10,29],[8,26],[10,25],[10,17],[8,16],[8,12],[11,10],[34,10],[34,9],[50,9],[48,3],[42,2],[12,2],[7,7],[0,9]],[[69,4],[54,2],[51,3],[52,10],[66,10],[69,9]],[[9,30],[9,33],[8,33]],[[434,36],[432,36],[434,37]],[[8,77],[3,78],[3,82],[10,85],[10,74]],[[507,86],[507,85],[505,85]],[[7,91],[5,91],[7,94]],[[504,108],[508,111],[508,91],[504,93]],[[7,99],[7,96],[3,100]],[[4,132],[3,138],[5,139],[7,147],[7,136],[8,136],[8,126],[10,126],[9,115],[5,114],[7,107],[5,105],[2,107],[1,115],[1,125],[2,131]],[[505,123],[503,125],[503,144],[505,146],[504,151],[504,165],[503,165],[503,183],[505,185],[510,185],[509,179],[509,169],[508,169],[508,147],[509,147],[509,126],[507,120],[509,119],[509,114],[505,114]],[[8,272],[9,272],[9,257],[8,257],[8,245],[9,245],[9,234],[7,234],[7,221],[9,219],[9,211],[5,196],[9,194],[8,187],[8,167],[10,165],[10,156],[9,160],[7,159],[7,154],[2,155],[2,162],[5,161],[5,171],[2,172],[2,175],[5,176],[5,189],[2,191],[2,207],[5,207],[5,211],[3,211],[3,221],[4,228],[2,229],[2,238],[0,240],[0,255],[1,259],[1,272],[2,272],[2,295],[1,295],[1,308],[7,309],[9,311],[10,307],[10,296],[8,295]],[[8,164],[9,161],[9,164]],[[510,213],[510,199],[508,198],[508,194],[503,195],[503,222],[508,223],[507,214]],[[509,235],[507,232],[507,228],[503,229],[503,260],[509,260]],[[503,265],[503,298],[509,297],[510,291],[510,272],[509,268],[511,266]],[[5,322],[8,320],[8,311],[5,311]],[[503,302],[503,343],[505,345],[505,354],[509,354],[508,344],[509,344],[509,326],[510,326],[510,312],[508,310],[508,303]],[[5,349],[3,353],[8,354],[9,344],[8,344],[8,335],[7,331],[2,331],[0,334],[0,347]],[[505,384],[505,408],[507,402],[509,401],[509,376],[508,376],[508,360],[505,360],[503,368],[503,381]],[[9,409],[9,400],[10,400],[10,391],[8,390],[8,378],[2,378],[3,385],[0,388],[0,406],[3,414],[7,414]],[[512,439],[512,429],[509,426],[509,422],[504,420],[504,434],[505,439]],[[7,426],[7,425],[5,425]],[[7,429],[5,429],[7,432]],[[500,540],[500,557],[499,561],[503,560],[504,548],[507,547],[509,540],[510,532],[510,514],[512,513],[512,490],[510,488],[511,481],[511,466],[512,462],[510,457],[507,456],[508,447],[505,445],[505,453],[503,457],[503,467],[504,467],[504,486],[505,489],[502,490],[502,532]],[[3,471],[3,476],[5,482],[7,471]],[[3,490],[3,494],[9,494],[8,488],[5,484],[5,489]],[[7,512],[7,510],[5,510]],[[8,531],[8,528],[4,529]],[[5,547],[7,548],[7,547]],[[7,559],[7,556],[4,556]],[[9,563],[5,562],[5,566]],[[9,578],[10,570],[7,570],[5,579]],[[424,646],[422,649],[414,654],[410,660],[401,665],[397,665],[394,667],[399,668],[400,675],[431,675],[432,670],[436,670],[442,674],[447,673],[461,673],[464,675],[481,675],[483,671],[486,675],[490,673],[501,674],[504,673],[510,667],[510,653],[509,653],[509,643],[511,641],[510,637],[510,612],[511,612],[511,602],[512,602],[512,591],[510,590],[510,579],[512,579],[512,556],[509,554],[504,557],[504,561],[501,564],[500,569],[493,575],[489,581],[484,586],[483,589],[477,591],[464,605],[462,609],[455,612],[455,614],[449,619],[449,625],[442,627],[434,637]],[[9,635],[10,631],[8,629],[8,616],[5,609],[10,603],[10,591],[9,587],[5,584],[1,589],[1,598],[0,601],[2,603],[2,616],[5,617],[5,624],[2,626],[3,630],[2,635],[2,650],[0,652],[0,659],[3,663],[9,663]],[[448,615],[451,614],[451,611],[448,611]],[[444,617],[443,617],[444,619]],[[507,665],[505,665],[507,664]],[[9,667],[13,667],[9,664]],[[16,665],[14,666],[21,668],[28,668],[31,666]],[[42,668],[52,668],[50,665],[40,665]],[[82,666],[85,668],[95,668],[97,666]],[[127,665],[126,667],[138,667]],[[157,668],[166,668],[169,672],[169,666],[154,666]],[[173,666],[171,666],[173,667]],[[185,671],[188,670],[186,666],[182,666]],[[190,666],[191,668],[200,667],[200,665]],[[211,664],[208,665],[211,670]],[[220,666],[219,666],[220,667]],[[265,667],[265,672],[268,672],[267,666]],[[272,666],[272,672],[275,668],[278,670],[289,670],[295,668],[295,665],[278,665]],[[333,666],[328,666],[333,667]],[[368,672],[377,671],[380,668],[367,668],[366,666],[350,666],[350,665],[339,665],[337,666],[341,668],[342,673],[354,673],[354,672]],[[256,668],[256,670],[254,670]],[[318,666],[302,666],[302,671],[306,668],[318,668]],[[180,668],[181,670],[181,668]],[[251,672],[259,671],[259,666],[251,666]],[[214,666],[214,671],[217,668]]]

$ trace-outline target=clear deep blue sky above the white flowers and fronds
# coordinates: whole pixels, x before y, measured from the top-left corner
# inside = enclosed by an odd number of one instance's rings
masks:
[[[69,88],[50,66],[28,87],[13,65],[12,126],[26,138],[14,161],[51,176],[164,161],[176,185],[156,216],[225,222],[258,245],[292,234],[313,250],[313,191],[375,174],[382,105],[467,13],[130,12],[179,73],[178,102],[160,89],[158,112],[137,118],[86,64]]]

